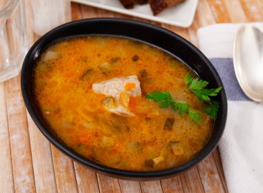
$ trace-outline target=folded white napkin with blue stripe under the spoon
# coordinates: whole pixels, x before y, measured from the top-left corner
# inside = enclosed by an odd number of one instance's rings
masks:
[[[197,35],[199,48],[217,69],[228,98],[228,120],[219,143],[228,190],[255,193],[263,192],[263,104],[248,99],[235,77],[233,42],[241,25],[207,26]],[[252,25],[263,32],[263,23]]]

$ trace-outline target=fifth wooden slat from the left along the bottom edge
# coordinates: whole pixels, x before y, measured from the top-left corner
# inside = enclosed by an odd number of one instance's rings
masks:
[[[100,192],[96,173],[74,162],[75,175],[78,183],[78,192]]]

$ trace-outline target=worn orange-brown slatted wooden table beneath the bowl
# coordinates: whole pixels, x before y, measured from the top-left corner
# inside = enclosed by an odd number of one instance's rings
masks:
[[[262,10],[262,0],[199,0],[189,28],[151,23],[172,30],[198,46],[200,27],[263,21]],[[73,20],[138,19],[78,3],[72,3],[72,17]],[[37,37],[30,25],[28,34],[33,44]],[[188,172],[161,181],[123,181],[92,172],[64,156],[44,138],[26,113],[19,77],[15,77],[0,84],[0,192],[228,192],[228,189],[218,148]]]

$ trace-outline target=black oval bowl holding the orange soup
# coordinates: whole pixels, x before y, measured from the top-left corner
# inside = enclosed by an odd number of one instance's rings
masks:
[[[21,70],[21,91],[23,93],[24,102],[26,103],[26,108],[39,130],[42,131],[42,134],[44,134],[44,136],[46,136],[55,147],[60,149],[60,151],[70,158],[73,158],[73,160],[78,161],[78,163],[81,163],[96,172],[117,178],[144,181],[175,176],[199,163],[199,161],[203,160],[203,158],[208,156],[208,154],[215,149],[226,124],[227,102],[224,89],[217,97],[217,100],[220,102],[220,109],[217,120],[215,120],[213,126],[210,140],[199,154],[183,165],[154,172],[127,171],[100,165],[80,156],[71,148],[66,147],[66,145],[56,138],[48,128],[42,113],[39,111],[33,91],[33,68],[39,54],[42,53],[48,45],[57,41],[57,39],[79,35],[117,35],[138,39],[147,44],[157,46],[181,59],[185,64],[192,68],[199,77],[210,82],[209,86],[211,88],[223,86],[215,68],[195,46],[183,39],[183,37],[180,37],[164,28],[139,21],[116,18],[84,19],[64,24],[46,33],[46,35],[42,36],[37,42],[35,42],[28,51]]]

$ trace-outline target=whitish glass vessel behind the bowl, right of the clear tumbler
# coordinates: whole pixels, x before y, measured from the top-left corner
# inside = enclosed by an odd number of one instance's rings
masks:
[[[1,0],[0,0],[1,1]],[[33,30],[44,35],[49,30],[71,21],[70,0],[31,0]]]

